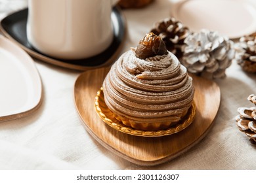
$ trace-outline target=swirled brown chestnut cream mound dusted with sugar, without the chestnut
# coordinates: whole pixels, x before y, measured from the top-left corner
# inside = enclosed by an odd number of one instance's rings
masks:
[[[192,78],[170,52],[139,59],[125,52],[103,83],[104,100],[118,116],[134,122],[179,122],[194,97]]]

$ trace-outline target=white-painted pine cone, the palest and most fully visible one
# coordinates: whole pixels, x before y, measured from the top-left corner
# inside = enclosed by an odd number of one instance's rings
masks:
[[[216,31],[202,29],[184,40],[181,63],[190,73],[206,78],[224,78],[226,68],[234,59],[233,42]]]

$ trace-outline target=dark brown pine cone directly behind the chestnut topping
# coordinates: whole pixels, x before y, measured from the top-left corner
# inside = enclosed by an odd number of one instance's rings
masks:
[[[165,18],[160,22],[156,22],[151,32],[163,39],[167,50],[175,54],[177,58],[181,58],[184,39],[190,34],[188,27],[184,27],[175,18]]]

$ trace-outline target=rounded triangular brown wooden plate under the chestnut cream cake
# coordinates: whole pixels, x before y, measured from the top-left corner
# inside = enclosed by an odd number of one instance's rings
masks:
[[[199,142],[209,131],[219,109],[221,92],[210,80],[192,75],[196,103],[196,118],[179,133],[164,137],[137,137],[117,131],[102,122],[95,112],[97,91],[109,68],[82,73],[74,86],[75,106],[85,129],[102,146],[138,165],[158,165],[169,161]]]

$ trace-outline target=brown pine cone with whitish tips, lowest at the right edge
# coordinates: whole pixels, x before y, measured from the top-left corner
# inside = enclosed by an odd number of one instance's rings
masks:
[[[256,105],[255,95],[249,95],[247,99]],[[238,129],[249,137],[251,143],[256,144],[256,107],[240,107],[238,113],[239,116],[236,116]]]

